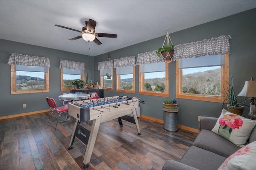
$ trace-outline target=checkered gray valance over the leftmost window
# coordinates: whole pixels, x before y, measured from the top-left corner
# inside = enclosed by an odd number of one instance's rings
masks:
[[[50,60],[49,58],[46,58],[46,57],[11,53],[8,60],[8,64],[50,67]]]

